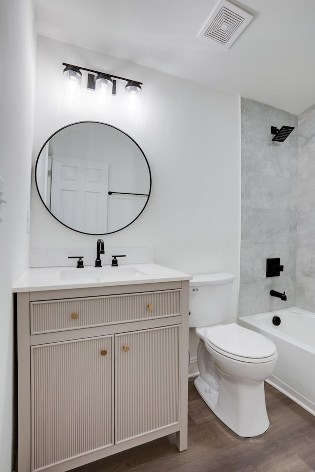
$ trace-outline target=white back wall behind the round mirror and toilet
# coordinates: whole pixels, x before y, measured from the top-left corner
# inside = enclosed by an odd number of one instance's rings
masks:
[[[62,62],[143,82],[140,112],[131,111],[122,89],[110,107],[95,106],[94,92],[88,90],[71,102],[63,93]],[[33,168],[53,132],[89,119],[129,134],[144,151],[152,172],[152,193],[144,212],[123,231],[104,236],[105,249],[153,247],[158,264],[190,274],[226,271],[238,277],[239,97],[39,36]],[[32,185],[32,249],[94,247],[95,242],[95,236],[60,225]],[[237,293],[238,280],[230,321],[236,320]]]

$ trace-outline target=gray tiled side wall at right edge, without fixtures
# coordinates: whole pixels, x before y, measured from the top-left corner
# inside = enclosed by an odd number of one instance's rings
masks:
[[[298,123],[296,305],[315,312],[315,105]]]

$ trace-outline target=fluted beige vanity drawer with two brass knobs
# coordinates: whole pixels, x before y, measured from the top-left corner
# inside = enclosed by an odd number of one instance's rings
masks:
[[[180,314],[180,290],[31,302],[31,334]]]

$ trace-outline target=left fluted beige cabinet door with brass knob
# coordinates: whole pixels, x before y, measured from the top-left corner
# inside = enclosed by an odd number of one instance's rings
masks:
[[[31,470],[112,445],[113,336],[31,350]]]

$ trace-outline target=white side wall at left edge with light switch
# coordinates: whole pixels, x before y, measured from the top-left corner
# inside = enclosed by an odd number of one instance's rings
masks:
[[[28,267],[35,46],[32,0],[0,2],[0,470],[13,468],[12,284]]]

